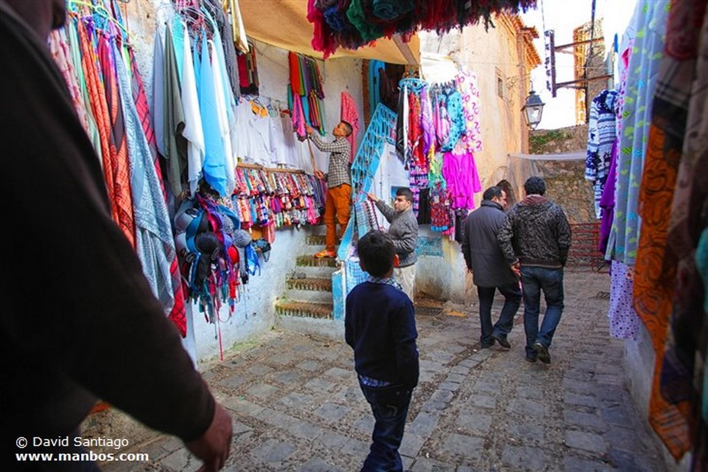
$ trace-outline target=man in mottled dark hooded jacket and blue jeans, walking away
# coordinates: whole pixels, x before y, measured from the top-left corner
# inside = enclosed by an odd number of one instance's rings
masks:
[[[528,178],[524,190],[525,198],[509,210],[497,239],[508,267],[521,275],[526,360],[549,364],[548,348],[563,313],[563,267],[571,228],[563,209],[543,196],[542,178]],[[541,291],[546,313],[539,330]]]

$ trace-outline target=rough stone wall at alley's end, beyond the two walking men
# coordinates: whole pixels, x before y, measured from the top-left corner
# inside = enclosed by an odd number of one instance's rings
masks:
[[[558,154],[584,150],[588,125],[533,131],[529,138],[531,154]],[[595,221],[593,188],[585,180],[585,159],[532,161],[532,175],[546,180],[546,195],[558,202],[572,223]]]

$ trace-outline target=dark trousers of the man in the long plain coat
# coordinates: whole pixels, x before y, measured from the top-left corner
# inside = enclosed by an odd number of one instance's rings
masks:
[[[504,296],[504,306],[494,326],[491,324],[491,306],[494,303],[494,293],[499,290]],[[493,343],[491,335],[505,337],[511,332],[514,325],[514,316],[521,304],[521,289],[519,284],[505,285],[504,287],[477,287],[479,296],[479,323],[481,324],[481,343],[489,346]]]

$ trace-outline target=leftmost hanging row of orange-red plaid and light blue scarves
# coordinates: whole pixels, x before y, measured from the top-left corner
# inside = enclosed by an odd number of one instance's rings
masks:
[[[185,304],[155,133],[129,33],[115,1],[67,9],[69,21],[52,35],[50,48],[101,160],[113,219],[184,336]]]

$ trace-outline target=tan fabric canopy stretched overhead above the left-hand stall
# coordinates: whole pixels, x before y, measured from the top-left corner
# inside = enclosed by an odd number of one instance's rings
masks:
[[[240,0],[246,35],[269,45],[299,52],[312,57],[322,53],[312,48],[312,23],[307,21],[307,1],[304,0]],[[398,43],[398,44],[396,44]],[[399,47],[401,45],[401,47]],[[404,43],[398,38],[376,40],[373,45],[347,50],[340,47],[330,58],[358,57],[377,59],[390,64],[417,65],[420,57],[418,35]]]

